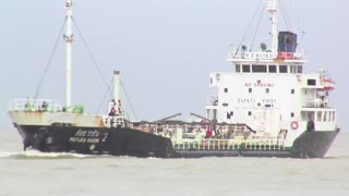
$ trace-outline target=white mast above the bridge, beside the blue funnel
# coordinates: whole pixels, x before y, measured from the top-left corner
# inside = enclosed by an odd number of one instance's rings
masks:
[[[277,49],[278,49],[278,22],[277,22],[277,8],[278,8],[278,0],[270,0],[268,3],[268,11],[272,14],[272,53],[273,57],[277,57]]]

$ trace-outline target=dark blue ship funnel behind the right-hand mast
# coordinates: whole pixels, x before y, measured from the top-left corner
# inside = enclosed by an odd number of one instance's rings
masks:
[[[278,52],[294,53],[297,50],[297,34],[292,32],[279,32]]]

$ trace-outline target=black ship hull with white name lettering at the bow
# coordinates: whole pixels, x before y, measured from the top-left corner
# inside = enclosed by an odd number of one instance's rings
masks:
[[[202,157],[280,157],[323,158],[336,138],[337,131],[304,132],[290,148],[194,149],[173,148],[167,137],[124,127],[76,127],[65,124],[51,126],[16,125],[23,136],[24,149],[44,152],[76,152],[156,158]]]

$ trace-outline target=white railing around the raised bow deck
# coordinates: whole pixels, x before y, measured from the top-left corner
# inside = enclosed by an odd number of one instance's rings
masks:
[[[61,112],[58,100],[53,99],[13,99],[10,100],[9,111],[48,111]]]

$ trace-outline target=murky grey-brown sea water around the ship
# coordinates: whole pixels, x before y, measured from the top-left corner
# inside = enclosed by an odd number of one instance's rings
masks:
[[[22,151],[0,132],[0,195],[349,195],[349,133],[323,159],[156,159]]]

